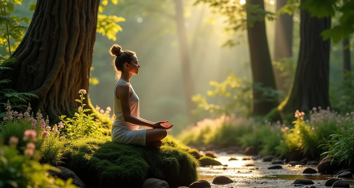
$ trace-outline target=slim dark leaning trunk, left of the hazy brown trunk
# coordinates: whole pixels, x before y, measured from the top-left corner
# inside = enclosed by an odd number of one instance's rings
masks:
[[[250,12],[251,5],[260,5],[264,9],[263,0],[247,0],[247,17],[254,16]],[[252,24],[252,25],[251,25]],[[267,34],[265,33],[265,22],[257,20],[254,23],[247,23],[247,33],[250,46],[251,68],[253,83],[261,83],[262,86],[276,89],[272,63],[270,61]],[[263,99],[263,92],[253,89],[253,114],[265,115],[278,105],[277,98],[270,100]]]

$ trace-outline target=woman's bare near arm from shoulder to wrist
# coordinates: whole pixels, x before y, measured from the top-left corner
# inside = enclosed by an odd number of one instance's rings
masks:
[[[139,125],[139,126],[153,128],[153,124],[154,124],[153,122],[149,122],[146,120],[144,121],[142,119],[138,119],[137,117],[131,115],[130,104],[129,104],[130,88],[129,88],[128,84],[125,84],[125,83],[119,84],[116,91],[115,91],[115,95],[120,100],[124,121],[129,122],[129,123],[133,123],[133,124]]]

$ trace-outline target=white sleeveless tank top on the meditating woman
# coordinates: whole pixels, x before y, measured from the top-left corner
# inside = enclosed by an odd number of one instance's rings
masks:
[[[135,91],[133,90],[133,87],[129,83],[124,80],[118,80],[114,87],[113,113],[115,115],[115,119],[112,124],[112,135],[117,133],[119,134],[120,131],[137,130],[139,128],[138,125],[124,121],[120,100],[115,95],[115,91],[118,85],[121,83],[128,84],[130,89],[132,90],[132,96],[129,98],[130,113],[132,116],[139,118],[139,97],[136,95]]]

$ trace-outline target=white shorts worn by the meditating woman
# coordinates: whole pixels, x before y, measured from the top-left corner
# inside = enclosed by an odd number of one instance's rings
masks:
[[[112,141],[120,144],[133,144],[146,146],[146,131],[148,129],[137,130],[117,130],[112,129]]]

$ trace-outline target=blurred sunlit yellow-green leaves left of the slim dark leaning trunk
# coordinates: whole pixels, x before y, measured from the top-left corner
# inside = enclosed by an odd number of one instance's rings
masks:
[[[207,110],[213,113],[214,117],[225,115],[240,115],[250,116],[252,114],[253,103],[261,101],[276,100],[278,91],[271,87],[264,87],[260,83],[253,83],[247,78],[238,78],[235,75],[229,75],[223,82],[210,81],[214,90],[208,90],[209,97],[216,97],[217,95],[224,97],[225,105],[216,105],[207,103],[207,99],[198,94],[192,96],[192,101],[198,104],[198,108]],[[253,92],[259,91],[262,96],[258,100],[253,99]],[[196,110],[195,113],[198,113]]]

